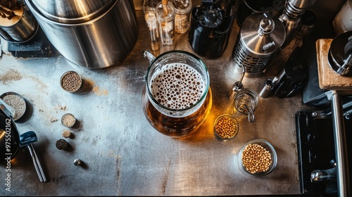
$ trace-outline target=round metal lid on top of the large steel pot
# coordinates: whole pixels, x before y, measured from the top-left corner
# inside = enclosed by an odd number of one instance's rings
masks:
[[[96,18],[117,0],[30,0],[49,20],[58,23],[83,23]]]

